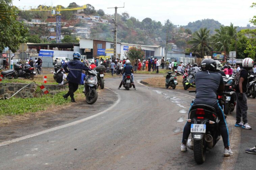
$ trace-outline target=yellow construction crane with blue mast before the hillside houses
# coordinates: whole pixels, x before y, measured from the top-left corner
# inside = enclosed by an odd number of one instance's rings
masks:
[[[87,6],[83,5],[81,7],[77,8],[63,8],[61,5],[57,5],[55,7],[53,6],[38,6],[38,7],[32,7],[32,6],[18,6],[17,7],[21,11],[51,11],[52,15],[56,15],[56,42],[60,43],[60,35],[61,35],[61,14],[60,11],[71,11],[71,10],[77,10],[77,12],[83,11],[83,9],[86,9]]]

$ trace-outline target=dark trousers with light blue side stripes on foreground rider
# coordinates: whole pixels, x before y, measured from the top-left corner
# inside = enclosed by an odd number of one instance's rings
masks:
[[[223,139],[224,147],[228,147],[229,146],[228,127],[227,127],[227,123],[226,123],[226,120],[225,120],[225,117],[224,117],[224,112],[222,111],[221,106],[219,105],[219,103],[217,101],[214,101],[214,100],[195,99],[193,105],[196,105],[196,104],[206,104],[206,105],[212,106],[216,109],[216,114],[217,114],[217,116],[220,120],[219,131],[220,131],[222,139]],[[190,109],[191,109],[191,107],[190,107]],[[189,109],[189,111],[190,111],[190,109]],[[187,140],[188,137],[189,137],[190,125],[191,125],[191,123],[187,122],[184,126],[182,143],[184,143],[184,140]]]

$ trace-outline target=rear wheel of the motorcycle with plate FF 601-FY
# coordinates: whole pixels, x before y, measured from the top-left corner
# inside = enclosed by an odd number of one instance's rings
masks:
[[[204,163],[206,158],[206,146],[204,138],[201,140],[194,140],[194,158],[196,163]]]

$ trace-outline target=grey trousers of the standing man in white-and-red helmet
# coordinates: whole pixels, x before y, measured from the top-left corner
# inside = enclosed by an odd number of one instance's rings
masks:
[[[242,100],[238,100],[239,93],[235,93],[235,94],[236,94],[236,123],[240,123],[241,117],[242,117],[244,124],[246,124],[248,123],[248,119],[247,119],[248,106],[247,106],[246,93],[243,93]]]

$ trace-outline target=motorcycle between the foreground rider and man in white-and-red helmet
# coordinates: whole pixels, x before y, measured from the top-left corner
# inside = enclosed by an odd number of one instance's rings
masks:
[[[234,89],[232,89],[232,84],[234,82],[233,77],[222,76],[225,84],[225,92],[229,93],[229,95],[224,95],[225,97],[225,105],[224,105],[224,113],[228,114],[234,111],[236,105],[236,95]]]

